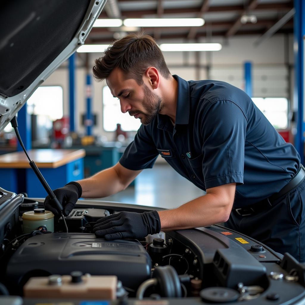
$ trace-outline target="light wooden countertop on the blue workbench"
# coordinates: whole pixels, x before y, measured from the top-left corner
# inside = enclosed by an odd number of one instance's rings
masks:
[[[28,155],[38,168],[56,168],[85,156],[84,149],[30,149]],[[0,156],[0,168],[30,168],[23,151]]]

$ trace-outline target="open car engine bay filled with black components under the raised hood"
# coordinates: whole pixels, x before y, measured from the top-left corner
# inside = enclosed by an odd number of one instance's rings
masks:
[[[239,232],[213,225],[107,241],[93,234],[99,218],[147,207],[94,200],[65,217],[69,232],[60,218],[54,231],[41,222],[25,232],[23,213],[42,213],[43,199],[0,195],[0,303],[305,303],[304,265]]]

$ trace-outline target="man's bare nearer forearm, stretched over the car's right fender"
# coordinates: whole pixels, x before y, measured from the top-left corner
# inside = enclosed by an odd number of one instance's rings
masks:
[[[206,227],[227,221],[231,205],[206,194],[173,210],[159,211],[161,231]]]

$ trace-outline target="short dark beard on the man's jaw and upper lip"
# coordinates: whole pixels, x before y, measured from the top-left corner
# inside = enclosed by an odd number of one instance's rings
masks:
[[[155,119],[157,114],[161,111],[162,99],[160,98],[159,95],[156,95],[155,93],[150,91],[149,88],[145,84],[143,85],[143,88],[144,88],[144,95],[145,95],[145,97],[143,99],[143,107],[145,109],[145,112],[141,112],[139,110],[132,110],[132,111],[129,111],[128,113],[131,116],[134,116],[137,113],[144,114],[144,117],[142,119],[140,119],[141,123],[143,125],[148,125]]]

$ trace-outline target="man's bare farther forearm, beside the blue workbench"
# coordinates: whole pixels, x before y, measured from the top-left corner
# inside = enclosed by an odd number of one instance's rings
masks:
[[[82,198],[102,198],[120,192],[125,188],[113,167],[77,182],[83,190]]]

